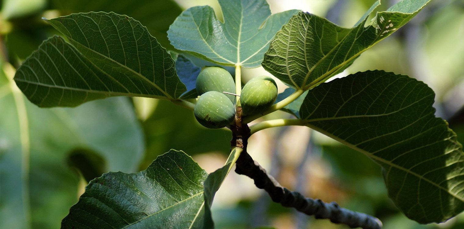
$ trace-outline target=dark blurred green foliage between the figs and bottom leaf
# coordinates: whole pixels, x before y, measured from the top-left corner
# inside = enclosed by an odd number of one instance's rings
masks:
[[[195,120],[193,112],[169,101],[156,101],[155,109],[142,125],[147,153],[142,168],[163,152],[175,148],[189,155],[230,150],[230,131],[206,129]],[[207,139],[207,140],[206,140]]]

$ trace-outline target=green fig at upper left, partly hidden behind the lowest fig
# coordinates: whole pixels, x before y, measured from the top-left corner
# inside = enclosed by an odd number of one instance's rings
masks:
[[[203,68],[197,77],[195,86],[198,95],[211,91],[235,93],[235,82],[231,73],[221,67]],[[228,94],[226,96],[234,102],[235,96]]]

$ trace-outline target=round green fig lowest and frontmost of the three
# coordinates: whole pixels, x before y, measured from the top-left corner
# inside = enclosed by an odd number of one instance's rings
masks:
[[[219,129],[230,124],[235,117],[235,105],[221,92],[210,91],[198,98],[193,109],[195,118],[203,126]]]

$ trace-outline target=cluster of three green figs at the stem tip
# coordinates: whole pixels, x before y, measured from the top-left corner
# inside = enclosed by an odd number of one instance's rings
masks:
[[[235,82],[222,67],[205,67],[196,81],[198,95],[195,118],[207,128],[219,129],[232,124],[235,119]],[[270,107],[277,98],[274,79],[259,76],[251,79],[242,89],[240,105],[242,116],[258,114]]]

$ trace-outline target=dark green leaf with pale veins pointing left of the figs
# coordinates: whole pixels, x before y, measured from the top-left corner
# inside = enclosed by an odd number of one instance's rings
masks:
[[[46,40],[14,79],[41,107],[77,106],[110,96],[179,98],[186,91],[175,63],[146,27],[116,13],[47,20],[63,33]]]

